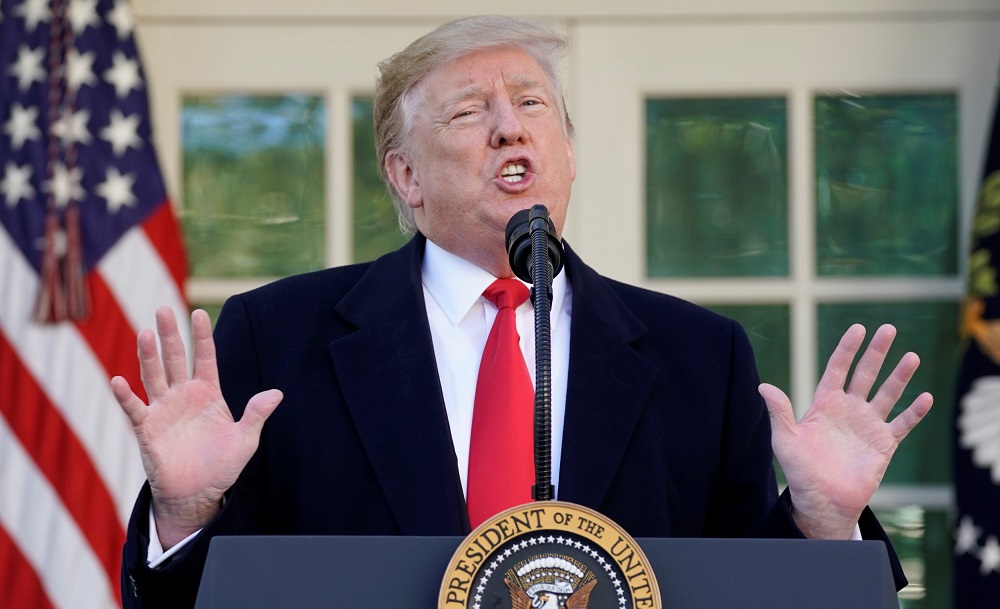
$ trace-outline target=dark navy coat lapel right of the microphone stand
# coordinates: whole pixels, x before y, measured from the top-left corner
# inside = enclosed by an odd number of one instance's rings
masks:
[[[638,423],[656,374],[633,348],[646,326],[608,280],[567,248],[573,289],[569,387],[559,499],[598,509]]]

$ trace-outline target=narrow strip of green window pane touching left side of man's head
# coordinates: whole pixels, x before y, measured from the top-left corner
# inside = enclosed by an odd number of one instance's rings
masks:
[[[396,209],[378,176],[372,98],[351,102],[353,130],[354,261],[374,260],[408,239],[399,230]]]

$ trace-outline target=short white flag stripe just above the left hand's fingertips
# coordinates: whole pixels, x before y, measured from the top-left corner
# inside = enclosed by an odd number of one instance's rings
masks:
[[[104,255],[97,270],[133,328],[155,328],[156,308],[167,305],[177,317],[181,336],[190,336],[184,299],[141,227],[125,233]]]

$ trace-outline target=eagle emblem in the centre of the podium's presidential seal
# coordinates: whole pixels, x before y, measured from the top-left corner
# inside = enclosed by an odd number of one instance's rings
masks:
[[[507,571],[511,609],[587,609],[597,579],[568,556],[542,554]]]

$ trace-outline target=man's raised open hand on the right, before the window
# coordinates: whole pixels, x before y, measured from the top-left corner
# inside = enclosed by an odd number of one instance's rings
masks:
[[[880,327],[847,384],[865,337],[863,326],[851,326],[830,356],[812,404],[798,423],[788,396],[773,385],[760,386],[771,414],[771,445],[788,480],[792,516],[807,537],[851,536],[899,443],[931,409],[933,398],[921,393],[886,421],[920,364],[914,353],[900,358],[868,399],[895,336],[894,327]]]

